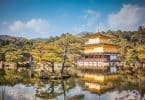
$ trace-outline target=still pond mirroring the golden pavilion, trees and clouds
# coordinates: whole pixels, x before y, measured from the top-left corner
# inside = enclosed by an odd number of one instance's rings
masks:
[[[144,76],[81,75],[65,80],[5,82],[0,85],[0,100],[145,100]]]

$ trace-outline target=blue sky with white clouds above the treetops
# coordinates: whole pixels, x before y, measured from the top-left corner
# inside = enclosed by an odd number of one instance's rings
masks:
[[[0,0],[0,35],[48,38],[144,25],[145,0]]]

